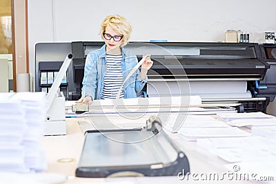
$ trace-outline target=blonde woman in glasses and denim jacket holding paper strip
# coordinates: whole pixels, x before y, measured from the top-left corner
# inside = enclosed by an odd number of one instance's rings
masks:
[[[141,72],[136,70],[124,83],[138,63],[137,57],[124,49],[131,32],[131,25],[124,17],[115,14],[103,20],[100,34],[105,44],[86,57],[83,88],[78,102],[92,104],[95,99],[116,99],[118,92],[120,98],[135,98],[144,88],[146,74],[153,63],[150,55],[144,55],[146,59],[141,65]]]

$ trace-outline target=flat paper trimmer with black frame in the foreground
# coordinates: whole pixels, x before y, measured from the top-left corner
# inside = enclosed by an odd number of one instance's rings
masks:
[[[86,132],[75,174],[88,178],[177,176],[183,170],[190,172],[186,155],[161,130],[161,121],[152,117],[144,128]]]

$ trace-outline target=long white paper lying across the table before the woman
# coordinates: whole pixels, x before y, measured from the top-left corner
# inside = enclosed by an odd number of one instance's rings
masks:
[[[74,104],[75,101],[66,101],[66,114],[74,114],[70,110],[70,106],[72,108]],[[217,108],[215,105],[211,108],[205,106],[200,108],[201,105],[199,96],[103,99],[93,101],[92,105],[89,105],[89,112],[75,114],[75,117],[119,113],[187,112],[188,114],[217,114],[218,112],[236,112],[233,108]]]

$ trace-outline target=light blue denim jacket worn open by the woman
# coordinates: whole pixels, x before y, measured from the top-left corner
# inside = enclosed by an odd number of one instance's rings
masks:
[[[138,63],[137,57],[130,52],[121,48],[122,61],[121,70],[123,78],[126,79],[129,72]],[[101,99],[103,92],[103,81],[106,74],[106,45],[99,50],[90,52],[86,57],[84,66],[84,76],[81,88],[81,97],[91,96],[92,100]],[[144,88],[146,81],[141,79],[139,69],[137,69],[130,78],[124,83],[124,99],[136,98],[139,92]]]

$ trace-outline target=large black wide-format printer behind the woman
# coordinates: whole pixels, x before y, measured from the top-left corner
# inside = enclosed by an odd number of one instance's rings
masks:
[[[38,43],[36,91],[41,90],[41,71],[51,69],[52,64],[47,62],[59,62],[61,55],[72,52],[67,98],[79,99],[86,56],[101,45],[103,42],[98,41]],[[267,76],[273,72],[269,72],[270,64],[257,43],[130,42],[125,48],[139,60],[143,54],[150,54],[154,61],[144,88],[146,96],[199,95],[202,103],[240,103],[239,112],[266,112],[275,98],[270,87],[275,88],[276,81]]]

